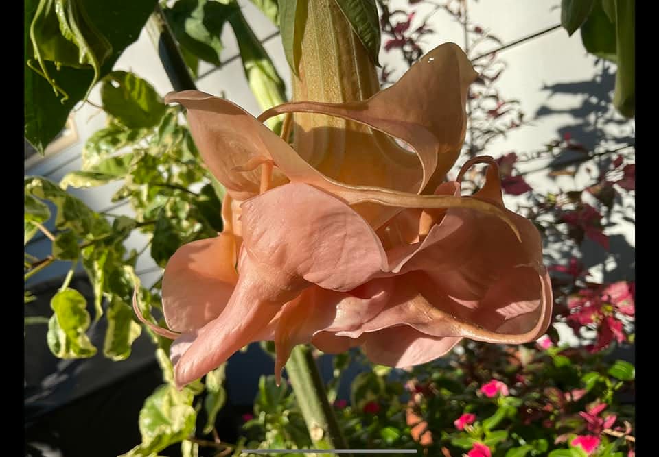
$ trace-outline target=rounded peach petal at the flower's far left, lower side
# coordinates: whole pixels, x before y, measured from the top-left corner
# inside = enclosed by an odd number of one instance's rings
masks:
[[[233,234],[180,247],[165,266],[163,313],[167,326],[193,332],[218,317],[238,281]]]

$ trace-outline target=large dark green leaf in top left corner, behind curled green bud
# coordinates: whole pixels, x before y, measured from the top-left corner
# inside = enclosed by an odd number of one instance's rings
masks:
[[[124,49],[137,40],[139,32],[153,11],[157,0],[78,0],[89,16],[89,23],[104,36],[112,47],[111,55],[100,68],[99,77],[109,73]],[[92,67],[76,69],[44,61],[49,75],[56,79],[68,99],[62,103],[49,82],[32,70],[27,61],[34,58],[30,41],[30,25],[38,6],[37,0],[25,1],[24,49],[25,87],[23,103],[25,107],[25,138],[43,153],[45,147],[64,127],[73,106],[82,100],[95,80]],[[83,32],[84,33],[84,32]],[[88,40],[91,38],[87,37]]]

